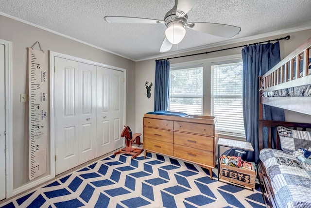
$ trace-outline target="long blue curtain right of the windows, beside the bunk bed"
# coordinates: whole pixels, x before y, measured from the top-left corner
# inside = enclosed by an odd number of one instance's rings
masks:
[[[259,80],[280,61],[279,42],[260,44],[242,49],[243,59],[243,114],[246,141],[253,145],[254,152],[249,152],[247,159],[258,162],[259,159]],[[269,117],[271,116],[271,117]],[[265,106],[265,119],[283,119],[284,110],[276,111]]]

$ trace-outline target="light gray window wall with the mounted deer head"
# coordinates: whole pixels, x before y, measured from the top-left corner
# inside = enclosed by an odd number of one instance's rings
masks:
[[[293,52],[294,49],[296,49],[301,44],[303,44],[305,41],[307,41],[307,39],[311,36],[311,30],[287,33],[284,35],[276,35],[276,36],[256,39],[256,40],[252,40],[248,42],[241,42],[241,43],[236,43],[236,44],[231,44],[231,45],[226,45],[226,46],[221,46],[221,47],[210,48],[207,50],[181,53],[181,54],[177,54],[174,56],[189,55],[189,54],[201,53],[201,52],[207,52],[207,51],[216,51],[220,49],[266,41],[269,39],[272,40],[272,39],[276,39],[276,38],[283,37],[286,35],[290,35],[291,38],[290,40],[280,41],[281,59],[283,59],[289,53]],[[188,56],[184,58],[176,58],[176,59],[171,59],[170,64],[172,65],[176,63],[193,62],[196,60],[213,59],[213,58],[221,57],[221,56],[241,54],[241,51],[242,51],[242,48],[237,48],[237,49],[231,49],[231,50],[226,50],[226,51],[221,51],[221,52],[213,52],[213,53],[196,55],[196,56]],[[170,58],[170,56],[163,56],[162,58]],[[157,58],[157,59],[160,59],[160,58]],[[143,127],[142,127],[143,116],[146,112],[154,110],[154,86],[152,87],[152,90],[151,90],[152,97],[150,99],[147,99],[145,95],[146,88],[144,87],[144,83],[146,81],[154,83],[155,81],[155,59],[137,62],[136,63],[136,74],[137,74],[136,75],[136,100],[139,101],[138,103],[136,103],[136,130],[138,132],[143,132]],[[210,82],[209,79],[205,81]],[[209,93],[209,92],[206,91],[205,93]],[[208,94],[205,94],[205,97],[208,97]],[[210,105],[210,103],[206,102],[204,103],[204,105]],[[209,109],[208,106],[203,106],[203,108]],[[296,113],[293,111],[288,111],[288,110],[285,110],[285,119],[286,121],[292,121],[292,122],[311,123],[311,116],[308,116],[306,114]]]

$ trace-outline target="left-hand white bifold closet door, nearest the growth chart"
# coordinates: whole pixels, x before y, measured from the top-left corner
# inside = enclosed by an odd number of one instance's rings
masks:
[[[96,70],[55,57],[55,174],[97,156]]]

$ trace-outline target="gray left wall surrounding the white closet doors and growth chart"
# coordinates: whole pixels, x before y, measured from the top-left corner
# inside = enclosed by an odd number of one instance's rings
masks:
[[[19,102],[19,94],[28,94],[27,48],[39,41],[44,51],[54,51],[126,69],[126,124],[135,130],[135,62],[55,35],[28,24],[0,16],[0,39],[13,43],[13,181],[14,189],[29,183],[28,179],[28,103]],[[104,38],[104,37],[103,37]],[[3,98],[0,98],[3,99]],[[120,132],[121,133],[121,132]],[[49,141],[48,141],[49,143]],[[50,155],[48,147],[48,156]],[[48,157],[47,167],[50,167]],[[45,175],[49,175],[50,170]],[[44,177],[40,176],[41,177]]]

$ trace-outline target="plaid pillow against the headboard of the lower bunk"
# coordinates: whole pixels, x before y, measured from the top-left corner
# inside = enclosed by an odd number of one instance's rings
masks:
[[[292,154],[299,148],[311,147],[311,132],[293,130],[284,126],[278,126],[276,129],[280,138],[281,149],[284,152]]]

